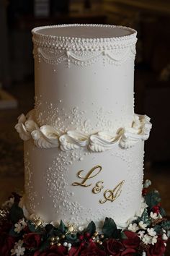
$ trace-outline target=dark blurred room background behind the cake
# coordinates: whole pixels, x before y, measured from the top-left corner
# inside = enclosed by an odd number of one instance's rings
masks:
[[[135,112],[151,116],[145,178],[161,192],[170,216],[170,1],[9,0],[0,1],[0,203],[23,190],[23,143],[14,125],[34,105],[30,30],[40,25],[102,23],[138,30]]]

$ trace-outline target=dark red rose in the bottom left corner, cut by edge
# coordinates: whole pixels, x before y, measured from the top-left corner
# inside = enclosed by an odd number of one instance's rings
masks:
[[[11,249],[14,248],[15,239],[13,236],[7,234],[1,234],[0,241],[0,255],[9,256],[11,255]]]

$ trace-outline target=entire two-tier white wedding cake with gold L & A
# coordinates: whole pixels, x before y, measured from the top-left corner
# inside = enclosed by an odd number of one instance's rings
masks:
[[[24,211],[46,222],[123,226],[140,210],[150,119],[134,114],[136,31],[113,25],[32,30],[35,109],[19,116]]]

